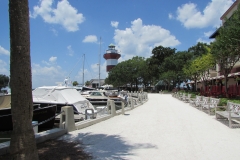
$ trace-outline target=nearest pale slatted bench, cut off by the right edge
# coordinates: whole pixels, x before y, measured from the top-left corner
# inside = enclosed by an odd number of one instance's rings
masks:
[[[227,119],[230,128],[240,127],[240,104],[227,102],[226,111],[215,110],[216,119]]]

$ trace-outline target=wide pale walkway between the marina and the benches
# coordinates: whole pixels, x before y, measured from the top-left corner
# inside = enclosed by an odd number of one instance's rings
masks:
[[[96,159],[239,160],[240,129],[230,129],[171,95],[149,94],[125,115],[71,132]]]

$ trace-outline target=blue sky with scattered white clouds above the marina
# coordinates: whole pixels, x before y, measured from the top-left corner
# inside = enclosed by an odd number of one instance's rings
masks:
[[[234,0],[29,0],[33,88],[65,77],[82,83],[106,78],[108,45],[119,62],[149,58],[155,46],[187,50],[221,25]],[[9,75],[8,0],[0,1],[0,74]],[[101,45],[100,45],[101,37]],[[100,60],[99,60],[100,57]]]

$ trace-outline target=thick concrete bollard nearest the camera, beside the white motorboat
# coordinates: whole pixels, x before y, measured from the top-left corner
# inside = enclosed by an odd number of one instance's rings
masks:
[[[73,107],[72,106],[64,106],[61,108],[61,112],[64,111],[60,115],[60,125],[59,128],[66,129],[68,132],[76,130]]]

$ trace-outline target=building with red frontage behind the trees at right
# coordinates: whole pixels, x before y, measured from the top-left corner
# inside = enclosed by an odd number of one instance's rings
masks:
[[[239,4],[240,4],[240,0],[236,0],[227,9],[227,11],[220,17],[222,21],[222,26],[218,28],[209,37],[210,39],[220,36],[219,34],[220,34],[221,28],[228,27],[227,23],[225,22],[231,22],[230,21],[231,17],[233,17],[235,11],[238,9]],[[229,31],[229,29],[227,31]],[[234,33],[234,34],[237,35],[237,33]],[[227,54],[230,54],[230,53],[228,52]],[[221,59],[220,62],[217,63],[215,67],[213,67],[210,70],[209,80],[207,82],[204,82],[205,84],[203,86],[201,85],[201,83],[198,84],[198,88],[201,88],[200,94],[204,96],[213,96],[213,97],[219,97],[219,96],[220,97],[240,97],[239,55],[235,54],[232,57],[227,57],[227,58],[222,57],[222,58],[225,58],[225,59]],[[224,66],[226,66],[225,73],[221,69],[221,67],[224,67]]]

